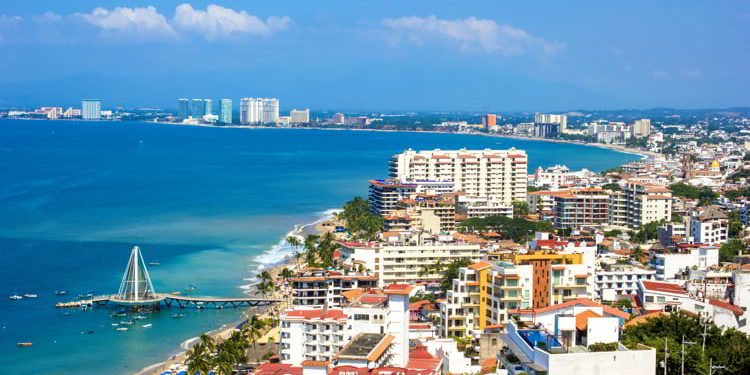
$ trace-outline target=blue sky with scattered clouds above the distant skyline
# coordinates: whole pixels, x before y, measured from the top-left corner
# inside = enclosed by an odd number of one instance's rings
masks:
[[[750,106],[750,1],[2,0],[0,106]]]

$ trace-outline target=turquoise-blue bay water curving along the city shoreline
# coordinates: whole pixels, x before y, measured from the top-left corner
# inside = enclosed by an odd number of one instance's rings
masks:
[[[162,361],[240,311],[171,319],[165,310],[116,332],[106,308],[64,316],[53,305],[70,296],[54,290],[115,292],[139,245],[146,262],[161,263],[150,269],[158,291],[195,283],[196,294],[242,295],[260,264],[288,254],[286,233],[365,195],[391,154],[460,147],[525,149],[530,170],[638,158],[468,135],[0,120],[0,369],[127,374]],[[39,298],[8,300],[15,292]]]

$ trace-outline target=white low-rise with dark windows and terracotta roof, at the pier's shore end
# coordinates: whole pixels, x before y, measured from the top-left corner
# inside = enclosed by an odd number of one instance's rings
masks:
[[[376,288],[378,277],[370,273],[304,269],[288,280],[292,289],[292,305],[337,307],[345,302],[345,292]]]

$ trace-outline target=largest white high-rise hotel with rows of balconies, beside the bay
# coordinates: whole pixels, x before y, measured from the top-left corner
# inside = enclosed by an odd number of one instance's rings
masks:
[[[505,205],[526,200],[528,157],[523,150],[406,150],[393,155],[390,177],[401,182],[453,181],[454,191],[496,196]]]

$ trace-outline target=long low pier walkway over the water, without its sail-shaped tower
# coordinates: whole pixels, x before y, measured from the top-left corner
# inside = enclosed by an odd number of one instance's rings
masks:
[[[187,307],[242,307],[242,306],[264,306],[271,305],[274,303],[284,302],[283,299],[275,298],[257,298],[257,297],[194,297],[194,296],[180,296],[166,293],[154,293],[153,298],[140,299],[140,300],[128,300],[119,298],[117,294],[95,296],[89,299],[83,299],[71,302],[60,302],[55,305],[57,308],[64,307],[80,307],[81,305],[93,306],[93,305],[120,305],[120,306],[146,306],[146,305],[161,305],[162,303],[171,307],[176,304],[179,308]]]

